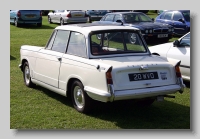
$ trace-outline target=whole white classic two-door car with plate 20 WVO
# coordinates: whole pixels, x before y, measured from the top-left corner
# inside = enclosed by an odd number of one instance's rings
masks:
[[[93,100],[151,104],[185,87],[180,61],[152,55],[140,30],[123,25],[58,26],[45,47],[23,45],[20,56],[26,86],[71,96],[82,113],[94,107]]]

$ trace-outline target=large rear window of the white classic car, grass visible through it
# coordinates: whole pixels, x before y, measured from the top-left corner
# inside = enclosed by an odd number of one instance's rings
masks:
[[[91,35],[92,55],[146,53],[141,37],[131,31],[105,31]]]

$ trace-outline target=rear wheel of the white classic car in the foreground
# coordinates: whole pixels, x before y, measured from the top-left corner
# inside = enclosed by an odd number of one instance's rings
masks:
[[[87,113],[92,108],[92,99],[83,88],[83,84],[80,81],[74,81],[71,88],[71,97],[74,108],[78,112]]]

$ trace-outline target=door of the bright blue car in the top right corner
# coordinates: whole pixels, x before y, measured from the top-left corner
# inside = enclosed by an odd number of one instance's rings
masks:
[[[187,32],[187,25],[184,21],[182,14],[180,12],[174,12],[172,19],[174,31],[177,34],[185,34]],[[180,21],[180,19],[182,19],[182,21]]]

